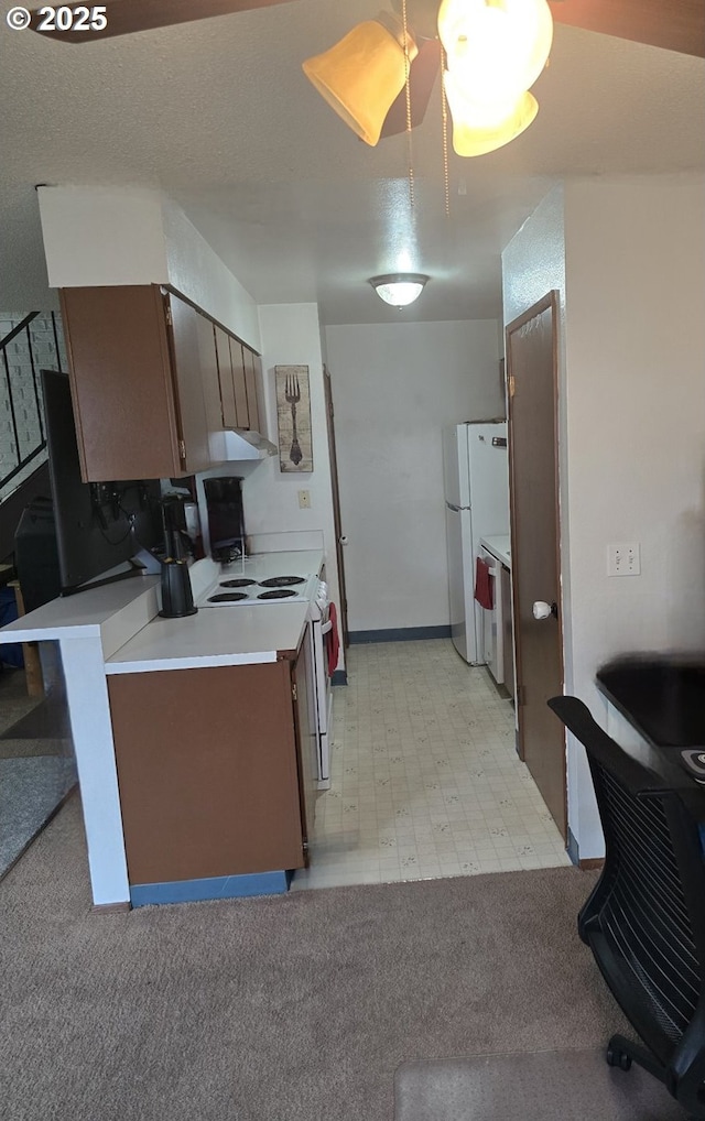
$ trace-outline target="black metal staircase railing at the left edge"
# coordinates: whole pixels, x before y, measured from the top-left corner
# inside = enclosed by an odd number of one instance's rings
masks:
[[[36,352],[37,348],[30,330],[31,323],[41,314],[41,312],[30,312],[0,340],[0,411],[3,419],[7,419],[11,437],[10,452],[0,454],[0,500],[2,492],[7,494],[7,484],[24,472],[33,461],[38,461],[46,450],[46,432],[39,389],[39,369],[43,363],[41,355]],[[54,353],[58,356],[61,349],[56,315],[52,312],[46,315],[46,318],[50,318]],[[26,335],[26,340],[21,337],[22,334]],[[21,385],[18,383],[17,377],[13,378],[11,373],[11,358],[13,356],[9,350],[11,345],[15,345],[16,354],[19,354],[21,350],[22,356],[29,359],[29,369],[25,371]],[[54,365],[55,361],[56,359],[53,359],[50,365]],[[21,420],[20,411],[24,413]]]

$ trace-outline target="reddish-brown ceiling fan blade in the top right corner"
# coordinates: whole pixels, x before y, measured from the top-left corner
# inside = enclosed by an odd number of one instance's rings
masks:
[[[703,0],[549,0],[557,24],[705,58]]]

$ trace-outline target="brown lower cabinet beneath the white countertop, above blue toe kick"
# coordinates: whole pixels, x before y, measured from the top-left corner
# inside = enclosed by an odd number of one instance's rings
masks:
[[[108,678],[131,886],[304,867],[305,657]]]

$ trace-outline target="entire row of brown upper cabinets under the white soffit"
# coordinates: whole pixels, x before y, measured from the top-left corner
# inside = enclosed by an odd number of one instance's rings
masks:
[[[188,300],[159,285],[61,299],[86,482],[195,474],[225,458],[223,429],[261,432],[259,358]]]

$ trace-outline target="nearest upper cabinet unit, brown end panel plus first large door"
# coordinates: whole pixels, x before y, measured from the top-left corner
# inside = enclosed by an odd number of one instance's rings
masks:
[[[64,288],[61,300],[84,480],[210,466],[195,308],[157,285]]]

